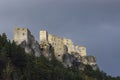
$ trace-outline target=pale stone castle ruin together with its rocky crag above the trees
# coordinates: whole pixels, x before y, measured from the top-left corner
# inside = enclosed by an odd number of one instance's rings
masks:
[[[86,47],[74,45],[71,39],[49,34],[46,30],[41,30],[39,36],[40,43],[27,28],[14,29],[14,41],[25,48],[27,53],[33,53],[37,57],[42,54],[49,60],[54,53],[56,59],[66,67],[71,67],[75,62],[88,64],[96,69],[96,58],[87,56]]]

